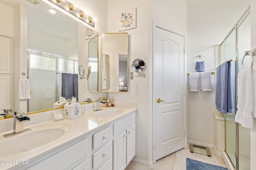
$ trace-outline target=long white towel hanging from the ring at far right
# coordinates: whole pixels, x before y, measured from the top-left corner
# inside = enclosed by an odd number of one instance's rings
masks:
[[[254,74],[255,76],[255,74]],[[254,85],[255,86],[255,85]],[[237,76],[237,111],[235,121],[243,127],[253,127],[252,68],[242,69]]]

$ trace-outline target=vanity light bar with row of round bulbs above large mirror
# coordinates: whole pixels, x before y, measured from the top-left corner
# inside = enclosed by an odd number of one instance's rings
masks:
[[[86,12],[82,11],[81,9],[77,8],[75,4],[67,0],[42,0],[43,2],[53,6],[57,10],[60,10],[64,14],[67,14],[71,18],[75,19],[76,21],[86,25],[90,29],[95,30],[95,21],[94,18],[86,14]]]

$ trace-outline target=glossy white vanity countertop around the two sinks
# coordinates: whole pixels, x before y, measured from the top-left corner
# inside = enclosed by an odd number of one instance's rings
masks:
[[[4,156],[0,157],[0,161],[10,161],[11,164],[6,165],[6,164],[1,164],[0,162],[0,169],[7,169],[7,168],[16,168],[17,166],[20,165],[15,165],[12,164],[13,161],[16,160],[23,160],[28,161],[28,164],[30,161],[35,160],[36,158],[39,158],[40,156],[47,154],[53,150],[56,150],[64,145],[67,145],[68,143],[83,137],[87,135],[88,133],[91,133],[93,131],[96,131],[97,129],[100,129],[104,125],[107,125],[119,118],[125,117],[126,115],[129,115],[133,111],[136,110],[136,108],[129,108],[129,107],[111,107],[111,108],[119,108],[122,109],[122,113],[116,114],[116,115],[111,115],[108,117],[102,117],[102,116],[97,116],[95,111],[86,111],[81,117],[77,119],[63,119],[61,121],[45,121],[42,123],[34,124],[34,125],[29,125],[25,128],[33,128],[35,126],[40,126],[40,125],[52,125],[52,124],[66,124],[72,126],[72,129],[68,133],[64,133],[60,138],[56,139],[55,141],[48,143],[46,145],[43,145],[42,147],[33,149],[33,150],[28,150],[26,152],[21,152],[18,154],[10,155],[10,156]],[[104,109],[111,109],[111,108],[104,108]],[[29,115],[28,115],[29,117]],[[32,130],[33,131],[33,130]],[[12,131],[10,131],[12,132]],[[3,137],[2,135],[10,132],[5,132],[0,134],[0,143],[2,140],[7,139]],[[30,133],[29,132],[24,132],[25,133]],[[22,135],[22,134],[20,134]],[[12,137],[8,137],[8,139],[15,138],[17,135],[14,135]],[[22,145],[22,143],[18,143],[17,145]],[[5,147],[1,146],[0,147]],[[3,162],[2,162],[3,163]]]

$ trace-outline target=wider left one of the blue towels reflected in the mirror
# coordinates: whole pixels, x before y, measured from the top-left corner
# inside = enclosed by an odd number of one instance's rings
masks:
[[[65,99],[73,98],[73,78],[71,73],[62,73],[61,96]]]

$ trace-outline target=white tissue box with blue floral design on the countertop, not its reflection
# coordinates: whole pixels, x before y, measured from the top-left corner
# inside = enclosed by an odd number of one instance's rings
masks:
[[[76,119],[81,117],[81,105],[79,103],[67,103],[64,105],[64,118]]]

